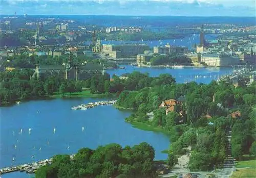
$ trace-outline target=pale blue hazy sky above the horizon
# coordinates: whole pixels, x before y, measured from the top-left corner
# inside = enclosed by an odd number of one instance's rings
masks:
[[[255,16],[256,0],[0,0],[0,14]]]

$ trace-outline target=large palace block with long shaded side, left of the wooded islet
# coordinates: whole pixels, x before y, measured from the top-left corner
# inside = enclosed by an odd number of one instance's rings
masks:
[[[108,54],[113,58],[122,58],[143,54],[144,50],[148,50],[149,48],[146,44],[103,44],[102,53]]]

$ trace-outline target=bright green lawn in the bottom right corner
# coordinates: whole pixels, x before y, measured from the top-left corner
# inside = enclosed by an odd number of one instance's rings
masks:
[[[233,172],[230,178],[255,178],[256,177],[256,159],[255,157],[244,156],[244,159],[253,159],[238,161],[236,164],[237,171]]]

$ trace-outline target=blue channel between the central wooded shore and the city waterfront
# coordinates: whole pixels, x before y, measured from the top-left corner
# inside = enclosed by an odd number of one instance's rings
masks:
[[[177,83],[185,83],[195,81],[197,83],[208,84],[212,80],[217,80],[222,75],[229,74],[233,71],[230,68],[200,68],[200,67],[184,67],[181,69],[174,68],[152,68],[152,67],[138,67],[131,65],[120,65],[125,69],[107,70],[106,72],[112,77],[113,74],[122,75],[123,73],[132,73],[139,71],[142,73],[149,73],[151,77],[157,77],[161,73],[172,74],[176,78]]]

